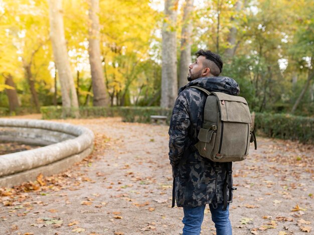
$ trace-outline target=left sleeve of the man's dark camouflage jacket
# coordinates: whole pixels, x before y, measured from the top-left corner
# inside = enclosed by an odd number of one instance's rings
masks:
[[[178,168],[180,160],[190,140],[188,132],[191,121],[189,103],[185,92],[181,92],[176,100],[169,127],[169,159],[173,169]]]

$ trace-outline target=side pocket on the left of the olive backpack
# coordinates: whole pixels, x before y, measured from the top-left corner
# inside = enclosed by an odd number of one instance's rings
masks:
[[[201,128],[197,138],[199,139],[199,142],[195,147],[200,155],[212,159],[216,132],[210,129]]]

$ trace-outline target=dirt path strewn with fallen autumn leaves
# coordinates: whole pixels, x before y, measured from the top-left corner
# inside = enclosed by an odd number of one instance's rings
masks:
[[[60,175],[2,189],[0,234],[181,233],[182,208],[171,208],[167,126],[63,122],[94,131],[92,156]],[[250,159],[234,163],[233,234],[313,234],[313,157],[313,146],[258,138]],[[208,209],[202,234],[215,234]]]

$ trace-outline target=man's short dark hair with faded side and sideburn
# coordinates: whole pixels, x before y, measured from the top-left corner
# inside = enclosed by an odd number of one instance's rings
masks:
[[[210,73],[212,75],[217,77],[222,72],[223,63],[221,57],[218,54],[211,51],[199,50],[197,53],[195,53],[195,55],[197,57],[204,56],[207,60],[209,60],[205,62],[204,66],[210,69]]]

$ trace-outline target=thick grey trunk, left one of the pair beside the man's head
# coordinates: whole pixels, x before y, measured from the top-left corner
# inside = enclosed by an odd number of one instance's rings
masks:
[[[178,0],[165,1],[165,21],[162,44],[161,107],[172,108],[178,92],[176,21]]]

